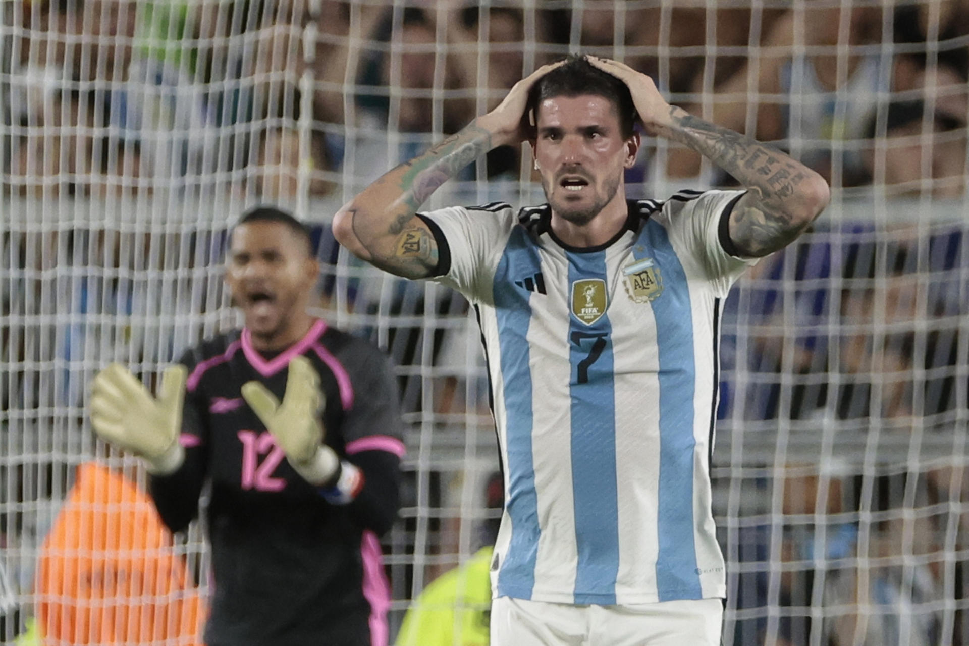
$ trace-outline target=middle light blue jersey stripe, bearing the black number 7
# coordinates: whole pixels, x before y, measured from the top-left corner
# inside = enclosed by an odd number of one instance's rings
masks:
[[[573,285],[598,278],[606,288],[606,253],[569,253],[569,295]],[[581,298],[581,294],[578,296]],[[571,305],[571,303],[570,303]],[[570,310],[574,308],[570,307]],[[619,510],[615,477],[615,383],[612,361],[612,326],[605,314],[587,325],[570,315],[569,391],[572,398],[572,495],[575,501],[576,603],[615,603],[619,571]],[[597,339],[605,342],[593,358]],[[579,371],[585,362],[585,383]]]

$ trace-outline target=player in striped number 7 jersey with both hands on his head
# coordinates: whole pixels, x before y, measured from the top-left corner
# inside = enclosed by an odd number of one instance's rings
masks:
[[[746,188],[626,200],[637,115]],[[417,213],[459,169],[523,140],[546,204]],[[720,643],[708,469],[723,301],[827,203],[817,173],[587,56],[518,81],[336,214],[359,258],[435,278],[477,310],[506,491],[493,644]]]

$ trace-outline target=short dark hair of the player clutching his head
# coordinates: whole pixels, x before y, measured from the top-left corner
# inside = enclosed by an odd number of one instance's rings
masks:
[[[633,136],[633,127],[639,115],[633,104],[629,87],[608,72],[603,72],[585,56],[570,54],[565,63],[539,78],[528,96],[528,112],[535,115],[542,102],[553,97],[578,97],[591,94],[608,99],[619,114],[619,128],[624,138]]]

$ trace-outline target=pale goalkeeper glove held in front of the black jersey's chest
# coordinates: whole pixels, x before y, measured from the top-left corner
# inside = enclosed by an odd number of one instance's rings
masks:
[[[326,398],[320,390],[320,376],[309,359],[295,356],[290,361],[282,404],[259,382],[243,385],[242,396],[266,424],[300,477],[320,486],[336,475],[340,460],[332,448],[323,444],[324,429],[319,418]]]

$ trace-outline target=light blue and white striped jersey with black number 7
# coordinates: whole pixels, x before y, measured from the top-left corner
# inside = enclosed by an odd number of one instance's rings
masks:
[[[437,280],[478,312],[505,474],[495,596],[628,604],[723,597],[710,508],[719,317],[754,261],[724,251],[742,192],[630,201],[572,248],[547,205],[422,214]]]

